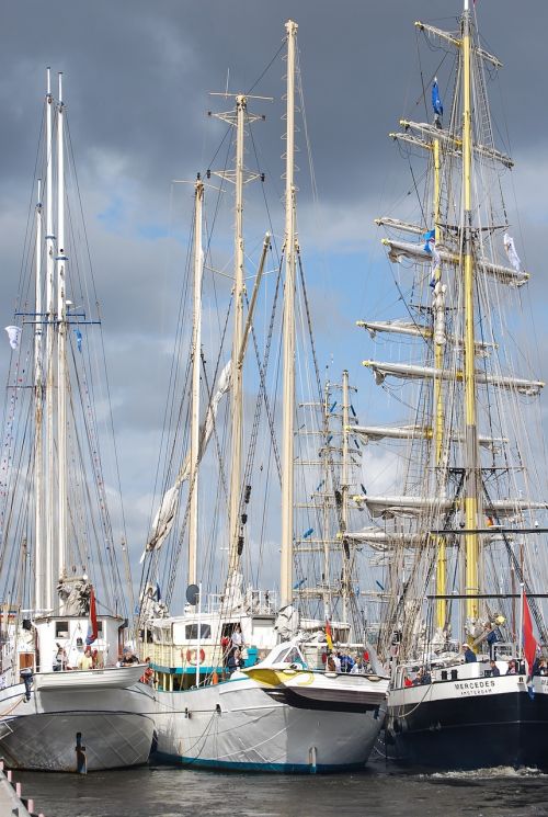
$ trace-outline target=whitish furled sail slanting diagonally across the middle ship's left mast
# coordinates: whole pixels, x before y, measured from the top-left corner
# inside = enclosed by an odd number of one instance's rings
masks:
[[[207,443],[209,442],[213,430],[215,428],[215,420],[217,417],[219,402],[222,396],[226,395],[226,393],[229,390],[231,382],[231,361],[229,361],[220,373],[217,383],[217,390],[212,397],[212,401],[207,409],[205,422],[201,434],[199,457],[203,456],[205,450],[207,449]],[[179,496],[181,492],[181,487],[189,479],[190,476],[191,455],[187,454],[176,476],[175,483],[163,495],[160,508],[158,509],[155,521],[152,522],[152,533],[149,541],[147,542],[142,556],[140,557],[141,563],[145,560],[147,553],[149,553],[150,551],[158,551],[169,536],[169,533],[173,527],[173,522],[179,508]]]

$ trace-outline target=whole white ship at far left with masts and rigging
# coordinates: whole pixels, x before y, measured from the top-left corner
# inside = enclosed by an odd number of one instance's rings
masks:
[[[142,665],[117,666],[128,620],[92,379],[101,363],[87,342],[99,321],[88,317],[79,211],[66,207],[62,76],[56,101],[49,69],[44,118],[45,190],[38,180],[22,299],[7,328],[0,752],[11,767],[85,772],[147,762],[153,690],[139,682]]]

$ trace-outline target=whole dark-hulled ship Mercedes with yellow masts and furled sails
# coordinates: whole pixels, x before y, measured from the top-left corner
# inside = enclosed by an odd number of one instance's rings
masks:
[[[372,524],[354,534],[384,570],[385,748],[442,769],[546,768],[548,506],[528,419],[544,383],[512,349],[529,274],[502,197],[513,162],[495,146],[488,103],[501,63],[482,47],[469,0],[457,31],[415,26],[439,55],[432,121],[403,120],[391,136],[409,158],[419,215],[376,219],[401,264],[406,313],[358,321],[385,349],[403,340],[411,352],[364,365],[412,416],[356,429],[400,463],[393,493],[356,496]],[[444,111],[435,75],[448,54],[456,78]]]

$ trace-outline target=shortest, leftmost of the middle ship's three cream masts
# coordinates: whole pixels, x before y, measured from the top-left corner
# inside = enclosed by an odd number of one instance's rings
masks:
[[[202,273],[204,268],[202,250],[202,205],[204,183],[197,179],[194,186],[194,316],[192,332],[192,413],[191,413],[191,462],[189,509],[189,585],[196,583],[197,536],[198,536],[198,458],[199,458],[199,363],[202,347]],[[202,603],[202,599],[199,600]],[[198,650],[199,653],[199,647]]]

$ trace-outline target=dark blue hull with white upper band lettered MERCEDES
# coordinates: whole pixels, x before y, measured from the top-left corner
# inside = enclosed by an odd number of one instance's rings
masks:
[[[518,676],[395,690],[388,699],[388,757],[446,770],[547,770],[548,679],[534,680],[533,697]]]

